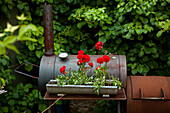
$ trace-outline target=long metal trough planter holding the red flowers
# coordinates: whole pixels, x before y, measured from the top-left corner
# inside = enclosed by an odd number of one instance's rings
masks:
[[[56,80],[50,80],[46,84],[49,94],[96,94],[92,85],[57,85]],[[117,86],[103,86],[99,93],[103,95],[116,95]]]

